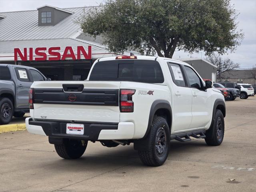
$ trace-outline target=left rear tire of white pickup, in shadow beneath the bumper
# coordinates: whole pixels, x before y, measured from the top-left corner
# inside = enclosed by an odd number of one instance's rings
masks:
[[[64,139],[63,144],[54,144],[57,154],[64,159],[78,159],[86,150],[88,141],[84,142],[84,146],[80,140]]]

